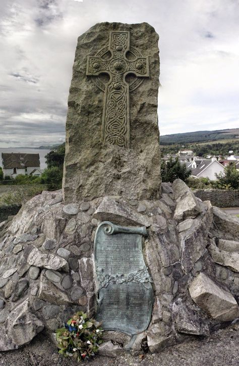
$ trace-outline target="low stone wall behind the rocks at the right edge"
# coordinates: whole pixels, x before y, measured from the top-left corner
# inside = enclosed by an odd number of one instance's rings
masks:
[[[228,189],[197,189],[193,191],[195,196],[202,201],[211,201],[217,207],[238,207],[239,190],[230,191]]]

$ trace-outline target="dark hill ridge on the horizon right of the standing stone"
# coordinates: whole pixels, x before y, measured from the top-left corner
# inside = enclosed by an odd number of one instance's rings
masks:
[[[172,133],[160,136],[160,145],[186,144],[194,142],[209,142],[225,139],[239,139],[239,128],[222,129],[215,131],[195,131]]]

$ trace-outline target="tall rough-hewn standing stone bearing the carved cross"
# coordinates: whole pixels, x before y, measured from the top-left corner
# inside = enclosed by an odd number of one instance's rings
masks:
[[[99,23],[78,38],[70,87],[65,203],[160,194],[158,35]]]

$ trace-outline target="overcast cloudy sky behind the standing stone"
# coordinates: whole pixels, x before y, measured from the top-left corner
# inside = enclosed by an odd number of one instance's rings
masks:
[[[0,5],[0,147],[65,140],[77,37],[104,21],[148,22],[159,34],[161,134],[239,127],[238,0]]]

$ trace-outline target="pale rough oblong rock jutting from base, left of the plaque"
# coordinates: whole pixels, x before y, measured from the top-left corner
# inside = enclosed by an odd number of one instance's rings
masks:
[[[27,263],[36,267],[45,267],[54,270],[69,270],[67,261],[64,258],[58,257],[51,253],[44,253],[33,247],[27,258]]]

